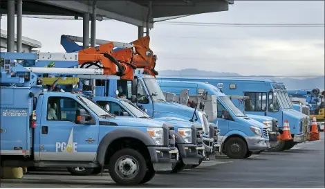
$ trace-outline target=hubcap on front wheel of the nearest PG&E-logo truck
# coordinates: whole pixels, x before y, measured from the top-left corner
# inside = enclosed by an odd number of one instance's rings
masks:
[[[115,172],[121,179],[133,179],[139,172],[139,163],[132,156],[122,156],[115,163]]]

